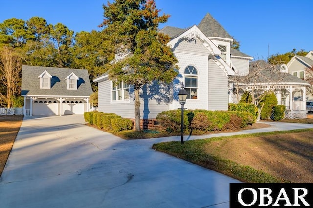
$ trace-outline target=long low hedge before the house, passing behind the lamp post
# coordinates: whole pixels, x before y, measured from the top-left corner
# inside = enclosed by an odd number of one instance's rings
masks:
[[[181,111],[170,110],[159,113],[156,120],[162,129],[169,133],[179,133],[181,130]],[[255,123],[251,113],[240,111],[184,111],[184,132],[213,132],[237,130]]]

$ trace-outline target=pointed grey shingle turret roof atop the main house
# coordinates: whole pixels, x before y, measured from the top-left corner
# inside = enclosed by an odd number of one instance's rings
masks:
[[[207,13],[198,25],[206,37],[231,38],[227,31],[218,23],[210,13]]]

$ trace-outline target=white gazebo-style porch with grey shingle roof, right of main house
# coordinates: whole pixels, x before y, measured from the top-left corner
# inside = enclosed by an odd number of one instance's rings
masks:
[[[278,105],[286,106],[285,118],[306,118],[306,87],[310,84],[289,74],[286,64],[271,65],[264,60],[252,61],[249,71],[247,76],[230,77],[230,80],[240,80],[234,81],[234,103],[240,100],[244,91],[249,91],[256,99],[266,91],[273,91]]]

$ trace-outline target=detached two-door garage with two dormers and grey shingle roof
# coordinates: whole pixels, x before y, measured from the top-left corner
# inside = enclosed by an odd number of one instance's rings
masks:
[[[88,71],[22,66],[24,115],[70,115],[89,111]]]

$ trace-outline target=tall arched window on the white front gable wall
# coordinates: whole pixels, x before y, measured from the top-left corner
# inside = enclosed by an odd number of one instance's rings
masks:
[[[188,93],[187,99],[197,99],[198,72],[194,66],[187,66],[184,72],[185,90]]]

